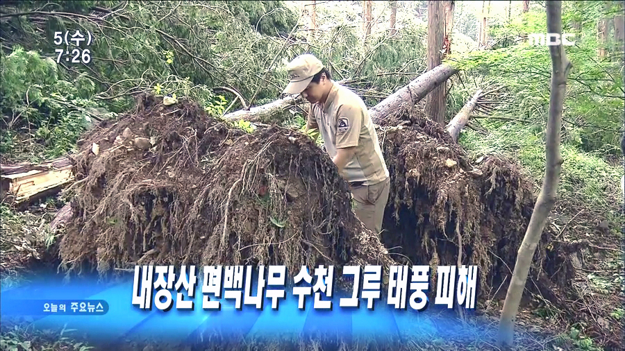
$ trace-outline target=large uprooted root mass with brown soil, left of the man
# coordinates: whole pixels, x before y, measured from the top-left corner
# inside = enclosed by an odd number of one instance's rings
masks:
[[[68,271],[275,264],[291,275],[319,264],[392,264],[310,138],[279,127],[247,133],[191,101],[162,100],[142,96],[134,113],[85,137],[60,243]]]

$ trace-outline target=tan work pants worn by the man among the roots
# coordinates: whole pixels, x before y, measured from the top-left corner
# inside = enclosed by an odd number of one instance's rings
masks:
[[[384,209],[388,201],[390,178],[374,185],[350,186],[349,188],[356,205],[353,212],[367,229],[380,233]]]

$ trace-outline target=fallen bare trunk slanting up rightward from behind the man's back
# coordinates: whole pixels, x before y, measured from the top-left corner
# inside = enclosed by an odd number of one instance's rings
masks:
[[[417,77],[405,87],[389,95],[386,99],[369,109],[369,115],[374,123],[380,123],[391,114],[403,114],[409,111],[415,103],[423,99],[428,92],[444,83],[449,77],[456,74],[458,69],[443,64]]]

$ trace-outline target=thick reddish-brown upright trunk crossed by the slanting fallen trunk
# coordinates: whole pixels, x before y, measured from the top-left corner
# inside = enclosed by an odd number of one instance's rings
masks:
[[[428,70],[440,65],[444,40],[444,8],[441,1],[428,1]],[[436,87],[426,99],[426,115],[444,126],[445,85]]]

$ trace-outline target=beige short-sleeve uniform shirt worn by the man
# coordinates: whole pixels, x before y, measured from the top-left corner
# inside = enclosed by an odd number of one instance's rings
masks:
[[[347,87],[332,83],[326,103],[311,105],[308,123],[319,129],[330,157],[338,148],[356,147],[344,169],[348,182],[374,185],[386,180],[388,169],[365,102]]]

